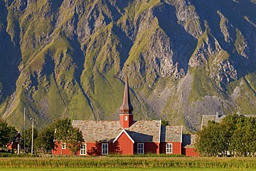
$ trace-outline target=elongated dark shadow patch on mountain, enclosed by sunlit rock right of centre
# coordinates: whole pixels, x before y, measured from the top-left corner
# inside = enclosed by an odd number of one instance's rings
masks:
[[[179,63],[179,70],[183,68],[185,73],[188,72],[188,62],[194,49],[196,48],[197,40],[188,32],[185,32],[183,26],[177,23],[176,9],[167,3],[154,8],[154,14],[158,18],[159,26],[165,31],[171,41],[171,49],[173,50],[172,60],[174,65]]]

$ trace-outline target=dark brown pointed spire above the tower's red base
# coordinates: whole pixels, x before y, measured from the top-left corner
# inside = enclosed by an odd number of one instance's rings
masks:
[[[122,100],[120,112],[121,112],[121,114],[132,114],[132,110],[134,110],[134,108],[131,105],[131,99],[130,99],[130,95],[129,95],[128,77],[126,77],[124,99]]]

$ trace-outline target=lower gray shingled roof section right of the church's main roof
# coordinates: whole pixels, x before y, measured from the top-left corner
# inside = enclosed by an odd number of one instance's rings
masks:
[[[182,141],[182,126],[162,126],[161,127],[161,142],[181,142]]]

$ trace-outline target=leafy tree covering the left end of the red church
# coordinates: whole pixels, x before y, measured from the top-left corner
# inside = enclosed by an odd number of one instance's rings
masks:
[[[84,139],[78,128],[73,128],[70,119],[57,120],[55,123],[55,140],[65,142],[69,150],[76,154]]]

